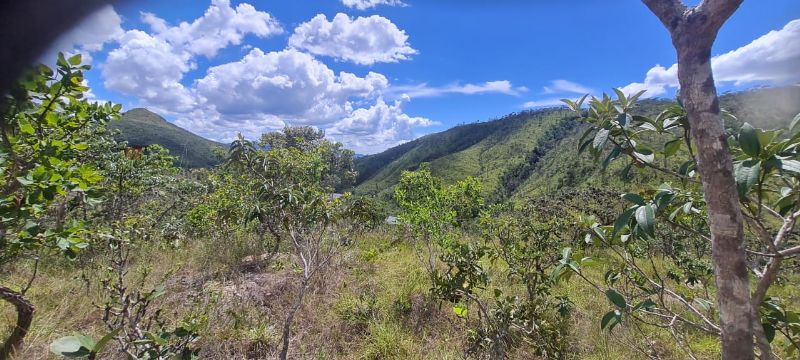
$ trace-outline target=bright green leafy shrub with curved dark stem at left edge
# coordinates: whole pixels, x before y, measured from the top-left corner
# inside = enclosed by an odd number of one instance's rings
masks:
[[[67,213],[85,206],[102,179],[90,145],[121,106],[84,98],[89,66],[80,64],[80,55],[59,54],[56,71],[38,66],[0,99],[0,266],[24,259],[38,265],[51,252],[74,258],[88,246],[83,224],[67,222]],[[18,314],[0,358],[22,347],[33,318],[25,298],[32,282],[19,290],[0,285],[0,298]]]

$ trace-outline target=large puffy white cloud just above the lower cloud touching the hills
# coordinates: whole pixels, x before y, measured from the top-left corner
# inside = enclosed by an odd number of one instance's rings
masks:
[[[368,99],[388,86],[381,74],[338,75],[295,49],[250,51],[242,60],[208,69],[197,94],[224,115],[270,114],[295,123],[322,125],[349,113],[353,99]]]

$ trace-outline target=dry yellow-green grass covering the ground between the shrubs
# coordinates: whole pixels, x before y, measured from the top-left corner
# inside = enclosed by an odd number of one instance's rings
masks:
[[[128,274],[144,289],[159,283],[167,295],[158,305],[169,319],[202,314],[206,326],[199,342],[202,358],[255,359],[275,356],[283,314],[294,297],[296,275],[290,257],[271,264],[243,261],[261,249],[246,236],[191,241],[179,248],[137,249]],[[83,263],[44,263],[29,293],[37,304],[32,332],[18,359],[55,358],[48,344],[73,331],[102,335],[98,308],[102,256]],[[95,261],[96,263],[93,263]],[[84,270],[79,270],[84,269]],[[86,270],[90,269],[90,270]],[[93,270],[92,270],[93,269]],[[29,268],[12,271],[11,283],[24,283]],[[94,271],[94,274],[86,272]],[[601,281],[605,269],[587,276]],[[143,274],[147,274],[146,278]],[[508,284],[513,288],[513,284]],[[291,358],[296,359],[458,359],[463,357],[466,328],[451,306],[430,299],[428,279],[415,250],[396,229],[379,229],[344,250],[313,286],[293,329]],[[791,285],[774,291],[798,298]],[[662,329],[623,324],[601,331],[599,321],[610,304],[603,294],[573,278],[554,295],[574,302],[570,318],[570,358],[684,359],[686,354]],[[9,331],[14,313],[0,305],[0,333]],[[646,334],[646,335],[642,335]],[[717,339],[691,333],[689,343],[702,359],[719,357]],[[110,357],[112,352],[102,358]],[[535,358],[520,348],[513,358]]]

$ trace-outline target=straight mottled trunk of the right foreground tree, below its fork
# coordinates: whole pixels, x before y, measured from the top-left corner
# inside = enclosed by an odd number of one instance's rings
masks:
[[[752,307],[744,232],[733,161],[711,73],[711,46],[678,48],[680,99],[697,146],[711,225],[711,252],[720,310],[723,359],[752,359]]]

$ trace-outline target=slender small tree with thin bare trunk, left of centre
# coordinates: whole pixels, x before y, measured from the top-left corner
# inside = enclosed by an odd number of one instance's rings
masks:
[[[333,189],[324,184],[329,174],[327,151],[325,146],[260,150],[244,139],[231,146],[232,164],[246,169],[252,179],[254,202],[249,218],[269,229],[276,249],[288,243],[302,270],[297,296],[283,326],[281,359],[288,356],[294,318],[312,282],[345,244],[336,225],[350,213],[348,196],[334,197]]]

